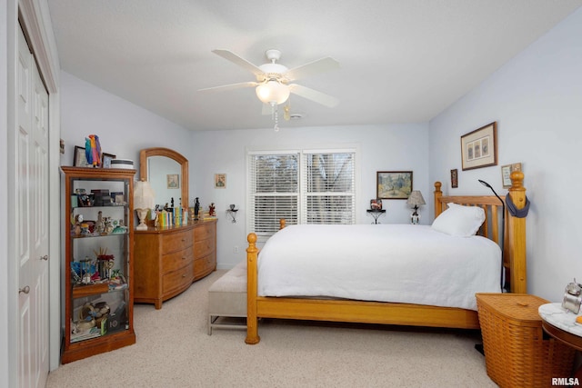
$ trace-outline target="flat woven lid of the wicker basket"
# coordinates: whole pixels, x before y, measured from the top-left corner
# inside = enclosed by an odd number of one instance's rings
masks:
[[[483,303],[508,319],[532,323],[541,320],[537,313],[539,306],[549,303],[528,293],[476,293],[475,296],[477,306]]]

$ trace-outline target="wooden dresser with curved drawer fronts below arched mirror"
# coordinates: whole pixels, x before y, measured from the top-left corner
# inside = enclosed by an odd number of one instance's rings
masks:
[[[134,302],[156,309],[216,270],[216,220],[134,233]]]

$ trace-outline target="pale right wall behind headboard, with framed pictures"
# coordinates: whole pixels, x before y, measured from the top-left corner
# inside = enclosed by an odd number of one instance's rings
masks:
[[[527,216],[527,290],[560,302],[573,277],[582,281],[582,8],[431,121],[430,180],[450,194],[498,194],[500,165],[521,162]],[[461,171],[462,134],[497,121],[498,164]],[[449,172],[458,168],[458,188]],[[446,183],[446,184],[445,184]]]

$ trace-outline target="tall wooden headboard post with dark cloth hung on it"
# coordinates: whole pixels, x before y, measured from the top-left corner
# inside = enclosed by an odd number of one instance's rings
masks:
[[[511,173],[511,188],[509,197],[517,209],[526,205],[526,188],[524,174],[521,171]],[[509,284],[512,293],[527,293],[527,265],[526,265],[526,218],[517,218],[509,215],[507,220],[509,239]]]

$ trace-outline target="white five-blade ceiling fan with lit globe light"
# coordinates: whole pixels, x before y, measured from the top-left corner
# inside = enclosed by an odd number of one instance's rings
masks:
[[[255,87],[258,99],[272,107],[275,107],[277,104],[284,104],[290,94],[299,95],[328,107],[334,107],[339,103],[336,97],[326,95],[325,93],[318,92],[303,85],[292,84],[293,81],[299,78],[338,69],[339,63],[332,57],[327,56],[306,65],[288,69],[286,66],[276,63],[281,57],[281,52],[276,49],[266,50],[265,56],[270,62],[260,66],[251,64],[246,59],[229,50],[213,50],[212,52],[250,71],[256,76],[256,81],[208,87],[199,89],[199,91],[223,91],[243,87]]]

